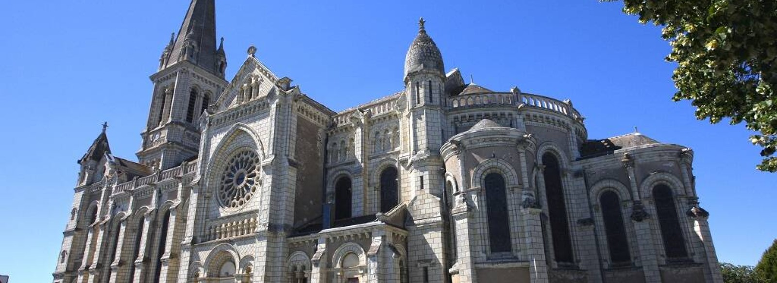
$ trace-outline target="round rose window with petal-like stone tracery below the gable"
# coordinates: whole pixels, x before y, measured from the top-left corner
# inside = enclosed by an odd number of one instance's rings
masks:
[[[258,187],[256,175],[259,173],[259,156],[251,151],[240,152],[227,164],[221,175],[218,201],[225,208],[239,208],[251,200]]]

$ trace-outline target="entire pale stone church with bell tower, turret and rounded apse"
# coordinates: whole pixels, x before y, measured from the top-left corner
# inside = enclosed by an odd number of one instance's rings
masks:
[[[423,19],[404,89],[339,113],[215,43],[193,0],[139,162],[105,128],[78,162],[54,282],[722,282],[690,149],[467,84]]]

